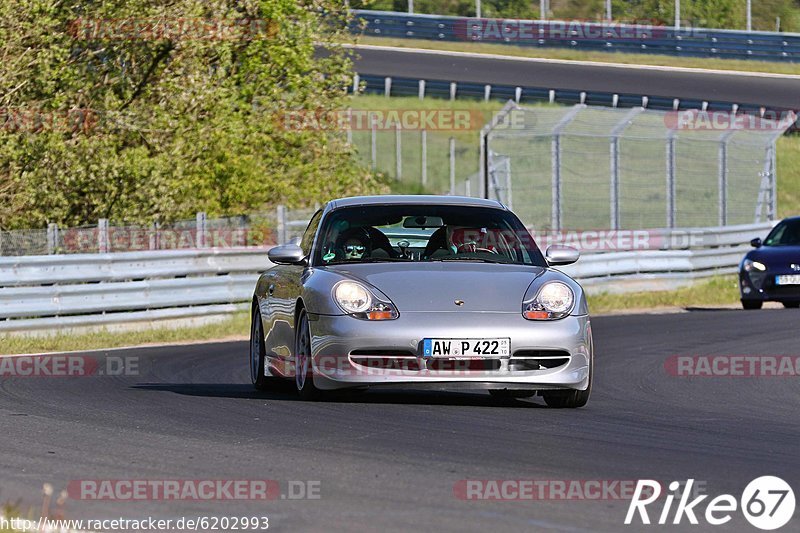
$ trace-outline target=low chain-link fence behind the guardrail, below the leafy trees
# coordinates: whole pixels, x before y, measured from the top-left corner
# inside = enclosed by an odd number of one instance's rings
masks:
[[[96,225],[0,231],[0,256],[137,252],[236,248],[283,244],[299,238],[318,208],[287,209],[246,216],[207,218],[197,213],[191,220],[168,224]]]

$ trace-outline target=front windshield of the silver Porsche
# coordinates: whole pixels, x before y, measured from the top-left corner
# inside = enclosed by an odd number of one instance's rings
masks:
[[[475,261],[546,266],[511,212],[489,207],[368,205],[323,221],[314,264]]]

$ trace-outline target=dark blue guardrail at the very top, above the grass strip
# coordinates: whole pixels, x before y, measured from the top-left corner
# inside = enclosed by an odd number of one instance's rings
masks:
[[[688,57],[800,61],[800,34],[604,22],[475,19],[356,10],[351,29],[366,35],[436,41],[668,54]],[[365,28],[358,27],[358,20]]]

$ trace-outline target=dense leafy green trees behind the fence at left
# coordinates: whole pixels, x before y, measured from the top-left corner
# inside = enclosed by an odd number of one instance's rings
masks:
[[[246,213],[381,190],[343,136],[336,0],[0,3],[0,227]],[[225,32],[228,33],[225,33]]]

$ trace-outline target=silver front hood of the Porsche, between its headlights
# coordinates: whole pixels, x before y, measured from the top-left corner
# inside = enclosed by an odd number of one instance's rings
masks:
[[[328,268],[377,288],[400,313],[519,313],[528,287],[545,271],[535,266],[472,262],[368,263]],[[456,305],[456,300],[463,305]]]

